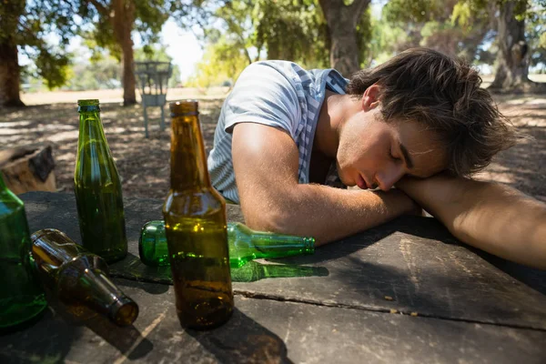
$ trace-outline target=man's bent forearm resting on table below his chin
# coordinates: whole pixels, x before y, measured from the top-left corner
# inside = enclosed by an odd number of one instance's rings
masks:
[[[268,216],[245,208],[250,227],[279,233],[312,236],[317,245],[378,226],[416,209],[401,191],[344,190],[320,185],[298,185],[275,201]]]

